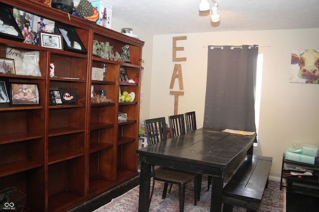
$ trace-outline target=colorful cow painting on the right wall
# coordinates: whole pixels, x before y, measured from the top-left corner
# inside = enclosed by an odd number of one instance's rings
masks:
[[[319,83],[319,51],[295,50],[291,56],[291,82]]]

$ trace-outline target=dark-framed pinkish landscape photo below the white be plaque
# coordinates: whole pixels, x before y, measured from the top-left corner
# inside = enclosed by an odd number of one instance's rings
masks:
[[[10,83],[11,105],[39,105],[39,89],[37,84]]]

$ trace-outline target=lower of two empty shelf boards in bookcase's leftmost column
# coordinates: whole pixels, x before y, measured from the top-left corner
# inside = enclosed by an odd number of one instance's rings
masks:
[[[4,163],[0,165],[0,177],[9,176],[11,174],[16,174],[22,171],[27,171],[30,169],[40,167],[42,165],[42,163],[28,159]]]

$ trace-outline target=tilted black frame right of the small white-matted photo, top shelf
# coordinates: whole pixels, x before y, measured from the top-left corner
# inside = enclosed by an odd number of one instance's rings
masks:
[[[55,23],[55,32],[62,35],[64,50],[84,55],[87,54],[87,51],[75,29],[60,23]]]

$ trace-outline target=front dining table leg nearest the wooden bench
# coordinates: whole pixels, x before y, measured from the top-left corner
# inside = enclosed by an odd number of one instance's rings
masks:
[[[212,177],[210,211],[221,212],[224,178]]]

